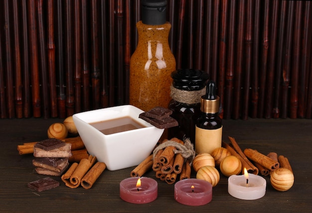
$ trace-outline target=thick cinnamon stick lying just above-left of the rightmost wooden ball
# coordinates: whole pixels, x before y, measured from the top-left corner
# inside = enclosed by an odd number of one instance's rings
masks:
[[[251,160],[253,160],[256,163],[259,163],[260,165],[264,166],[267,169],[270,169],[271,171],[276,170],[279,168],[280,163],[278,161],[275,161],[268,156],[253,150],[253,149],[245,149],[244,154]]]

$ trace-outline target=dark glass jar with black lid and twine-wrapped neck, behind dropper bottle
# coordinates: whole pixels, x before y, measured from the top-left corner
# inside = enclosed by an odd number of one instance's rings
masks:
[[[200,115],[200,97],[205,94],[208,74],[196,69],[179,69],[171,73],[172,85],[168,108],[178,126],[168,129],[168,138],[190,138],[195,143],[195,124]]]

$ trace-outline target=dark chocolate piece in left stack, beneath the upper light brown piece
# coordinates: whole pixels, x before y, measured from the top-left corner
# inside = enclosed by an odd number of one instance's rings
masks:
[[[68,164],[68,158],[35,158],[32,160],[32,165],[35,167],[48,169],[55,172],[61,172]]]

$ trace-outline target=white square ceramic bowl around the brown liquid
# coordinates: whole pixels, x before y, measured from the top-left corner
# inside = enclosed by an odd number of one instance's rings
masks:
[[[114,171],[139,165],[152,153],[163,133],[164,129],[139,118],[142,112],[131,105],[113,106],[76,113],[73,120],[89,154],[104,162],[108,170]],[[104,134],[90,124],[125,116],[146,127]]]

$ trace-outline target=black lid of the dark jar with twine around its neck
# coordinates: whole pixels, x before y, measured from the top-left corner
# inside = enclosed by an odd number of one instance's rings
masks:
[[[208,73],[196,69],[178,69],[171,73],[172,85],[178,90],[196,91],[205,87]]]

